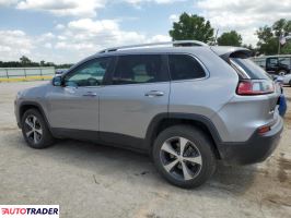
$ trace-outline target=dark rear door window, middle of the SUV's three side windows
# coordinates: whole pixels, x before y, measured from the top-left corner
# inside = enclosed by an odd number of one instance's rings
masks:
[[[167,80],[160,55],[120,56],[113,75],[113,84],[155,83]]]

